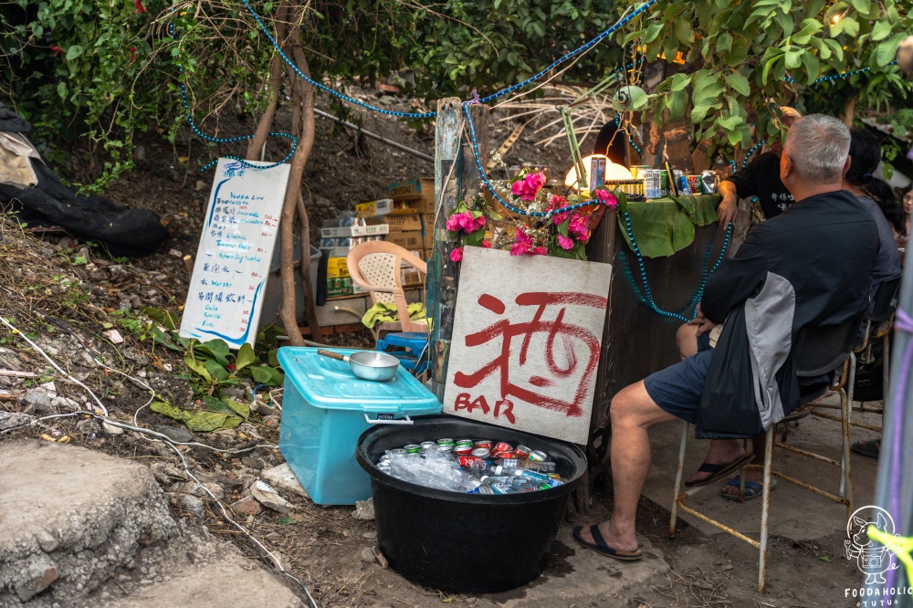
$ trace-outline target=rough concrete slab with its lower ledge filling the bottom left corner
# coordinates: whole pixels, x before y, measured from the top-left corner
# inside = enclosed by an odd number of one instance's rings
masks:
[[[0,443],[0,608],[299,608],[236,548],[177,523],[148,466]]]

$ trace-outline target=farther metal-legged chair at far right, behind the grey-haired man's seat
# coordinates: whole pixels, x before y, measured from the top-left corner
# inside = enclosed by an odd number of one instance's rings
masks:
[[[859,360],[863,363],[872,362],[874,358],[872,357],[872,344],[876,340],[882,341],[883,353],[882,358],[884,360],[884,369],[882,372],[882,394],[887,395],[887,383],[890,376],[890,352],[891,352],[891,328],[894,326],[894,310],[897,309],[897,294],[900,291],[900,277],[892,278],[887,281],[883,281],[881,285],[878,286],[877,291],[875,292],[874,305],[872,307],[872,315],[866,320],[866,337],[863,340],[862,344],[856,346],[853,349],[853,352],[859,355]],[[858,406],[853,406],[853,403],[850,402],[851,414],[852,412],[859,412],[861,414],[884,414],[884,407],[870,407],[867,406],[865,402],[860,402]],[[824,414],[824,412],[819,412],[820,409],[838,409],[837,405],[831,404],[816,404],[812,414],[819,418],[826,418],[828,420],[834,420],[840,422],[840,418],[832,414]],[[870,431],[876,431],[880,433],[882,431],[881,426],[877,425],[867,425],[866,423],[853,422],[850,421],[850,425],[857,426],[859,428],[866,428]]]

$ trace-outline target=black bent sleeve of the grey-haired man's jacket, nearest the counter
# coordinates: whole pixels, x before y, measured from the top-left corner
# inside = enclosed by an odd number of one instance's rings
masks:
[[[724,260],[707,279],[700,309],[713,323],[726,320],[729,310],[755,295],[767,280],[767,254],[762,245],[764,230],[755,226],[735,257]]]

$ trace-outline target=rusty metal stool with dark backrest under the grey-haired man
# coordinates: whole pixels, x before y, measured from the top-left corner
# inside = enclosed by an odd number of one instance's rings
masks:
[[[678,467],[676,472],[676,486],[675,486],[675,499],[672,504],[672,519],[669,522],[669,535],[675,537],[676,533],[676,522],[677,522],[677,509],[681,508],[683,511],[693,515],[698,519],[702,519],[707,523],[716,526],[717,528],[723,530],[724,532],[736,537],[737,539],[744,540],[749,543],[755,549],[760,550],[761,558],[758,565],[758,592],[763,593],[766,589],[767,584],[767,538],[768,538],[768,521],[771,508],[771,477],[776,476],[780,477],[784,481],[789,481],[792,484],[795,484],[799,487],[803,487],[807,490],[818,494],[824,498],[834,500],[834,502],[839,502],[846,506],[846,517],[849,518],[853,513],[853,485],[852,485],[852,475],[850,472],[850,417],[849,417],[849,404],[852,403],[853,398],[853,382],[855,380],[855,355],[853,354],[853,342],[855,341],[856,333],[859,330],[859,323],[861,318],[855,318],[843,325],[829,326],[829,327],[817,327],[817,328],[805,328],[800,330],[799,335],[796,339],[794,351],[796,356],[796,373],[799,377],[814,377],[824,375],[829,372],[833,372],[838,367],[841,368],[841,378],[837,383],[834,383],[831,388],[840,393],[840,404],[841,404],[841,422],[843,423],[843,449],[841,461],[837,462],[833,458],[828,458],[826,456],[821,456],[814,454],[813,452],[808,452],[806,450],[801,450],[796,447],[786,446],[781,443],[777,443],[777,446],[788,449],[796,454],[802,456],[809,456],[816,460],[820,460],[834,466],[840,466],[841,476],[840,476],[840,491],[839,496],[835,496],[830,492],[826,492],[818,487],[813,487],[810,484],[807,484],[795,477],[789,477],[782,473],[773,470],[772,459],[773,459],[773,446],[774,440],[773,435],[775,433],[776,425],[771,425],[765,433],[765,445],[764,445],[764,465],[749,465],[747,468],[762,468],[764,471],[763,478],[763,493],[761,495],[762,507],[761,507],[761,538],[760,540],[754,540],[745,534],[742,534],[738,530],[731,529],[726,524],[712,519],[707,515],[700,513],[698,510],[688,507],[685,504],[685,500],[688,496],[698,492],[703,487],[694,487],[687,490],[684,493],[681,492],[682,487],[682,472],[685,467],[685,447],[687,445],[687,434],[688,434],[688,423],[682,422],[682,435],[681,442],[679,444],[678,450]],[[847,395],[844,387],[849,386],[849,394]],[[811,387],[807,387],[800,398],[800,404],[807,404],[814,399],[817,399],[821,396],[824,391],[827,389],[826,383],[818,383]],[[744,502],[745,499],[745,476],[740,476],[741,487],[740,487],[740,502]],[[707,486],[704,486],[707,487]]]

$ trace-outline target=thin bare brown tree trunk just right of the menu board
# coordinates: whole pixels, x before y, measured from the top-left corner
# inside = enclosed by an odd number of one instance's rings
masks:
[[[291,58],[298,65],[299,69],[306,76],[310,77],[308,60],[304,55],[304,48],[301,47],[300,23],[301,15],[299,13],[293,16],[292,25],[286,30],[288,32],[289,47],[291,48]],[[277,26],[280,24],[277,21]],[[291,66],[289,66],[289,83],[291,84],[292,98],[292,132],[299,137],[298,149],[291,158],[291,171],[289,173],[289,189],[286,192],[285,204],[282,207],[282,217],[279,221],[279,236],[281,240],[280,254],[280,276],[282,278],[282,309],[279,318],[285,327],[289,341],[294,346],[303,346],[304,337],[298,328],[298,319],[296,318],[295,309],[295,212],[298,209],[299,197],[301,195],[301,177],[304,174],[304,165],[308,162],[310,150],[314,145],[314,89],[304,79],[299,78]],[[310,274],[310,243],[301,243],[301,264],[308,267]],[[310,299],[305,302],[305,307],[310,310],[310,319],[314,318],[314,323],[310,327],[310,335],[314,341],[322,341],[323,335],[320,332],[320,326],[316,323],[314,307],[316,306],[310,281],[307,285],[302,286],[305,293],[310,292]]]

